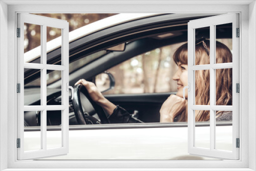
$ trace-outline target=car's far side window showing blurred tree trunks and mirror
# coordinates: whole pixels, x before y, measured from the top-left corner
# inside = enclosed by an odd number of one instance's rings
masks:
[[[173,54],[184,42],[164,46],[152,51],[134,56],[108,70],[115,78],[112,90],[103,94],[136,94],[176,92],[177,82],[173,76],[177,65]],[[99,74],[96,85],[103,91],[107,89],[108,79]]]

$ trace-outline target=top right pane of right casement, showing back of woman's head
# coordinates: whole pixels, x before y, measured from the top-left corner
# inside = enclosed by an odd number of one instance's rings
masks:
[[[216,26],[216,63],[232,62],[232,38],[230,37],[232,37],[232,23]]]

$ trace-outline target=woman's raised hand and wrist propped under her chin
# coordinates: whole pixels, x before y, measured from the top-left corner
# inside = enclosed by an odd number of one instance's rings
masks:
[[[170,95],[160,109],[160,122],[173,122],[176,114],[186,108],[186,100],[180,96]]]

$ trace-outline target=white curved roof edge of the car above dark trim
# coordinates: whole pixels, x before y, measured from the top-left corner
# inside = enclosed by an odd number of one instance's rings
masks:
[[[132,20],[137,20],[137,19],[156,16],[156,15],[161,15],[161,14],[159,13],[123,13],[123,14],[117,14],[107,18],[103,18],[103,19],[97,20],[94,23],[91,23],[89,25],[80,27],[76,30],[69,32],[69,42],[75,41],[81,37],[90,35],[97,31],[110,28],[112,26],[130,22]],[[48,45],[46,49],[47,53],[59,48],[61,46],[61,36],[47,42],[47,45]],[[25,62],[33,61],[34,59],[38,58],[41,55],[40,53],[41,53],[41,48],[40,46],[38,46],[24,54],[24,61]]]

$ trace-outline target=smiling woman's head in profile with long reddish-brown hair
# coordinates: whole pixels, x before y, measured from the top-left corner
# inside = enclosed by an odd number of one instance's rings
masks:
[[[208,39],[198,39],[196,41],[195,48],[195,56],[196,56],[196,65],[207,65],[209,63],[209,52],[210,52],[210,44]],[[232,54],[227,46],[222,44],[219,41],[216,41],[216,61],[226,61],[231,62]],[[178,82],[178,92],[177,96],[182,97],[182,89],[184,86],[187,86],[187,44],[181,46],[174,54],[174,60],[179,66],[179,70],[177,71],[174,79]],[[218,62],[217,62],[218,63]],[[231,69],[222,69],[222,71],[217,70],[216,75],[221,75],[222,77],[217,77],[216,79],[216,95],[218,98],[216,105],[232,105],[232,70]],[[199,70],[195,72],[196,82],[195,82],[195,98],[197,105],[209,105],[210,103],[210,85],[209,85],[209,71],[208,70]],[[187,98],[187,91],[185,93],[185,97]],[[231,103],[230,103],[231,102]],[[219,111],[216,115],[218,117],[222,116],[223,111]],[[208,121],[209,120],[209,111],[199,111],[196,113],[196,121]],[[226,115],[232,114],[228,113]],[[187,121],[187,111],[186,114],[175,114],[175,117],[179,117],[179,121]],[[222,116],[222,118],[218,118],[218,120],[230,120],[230,116]]]

